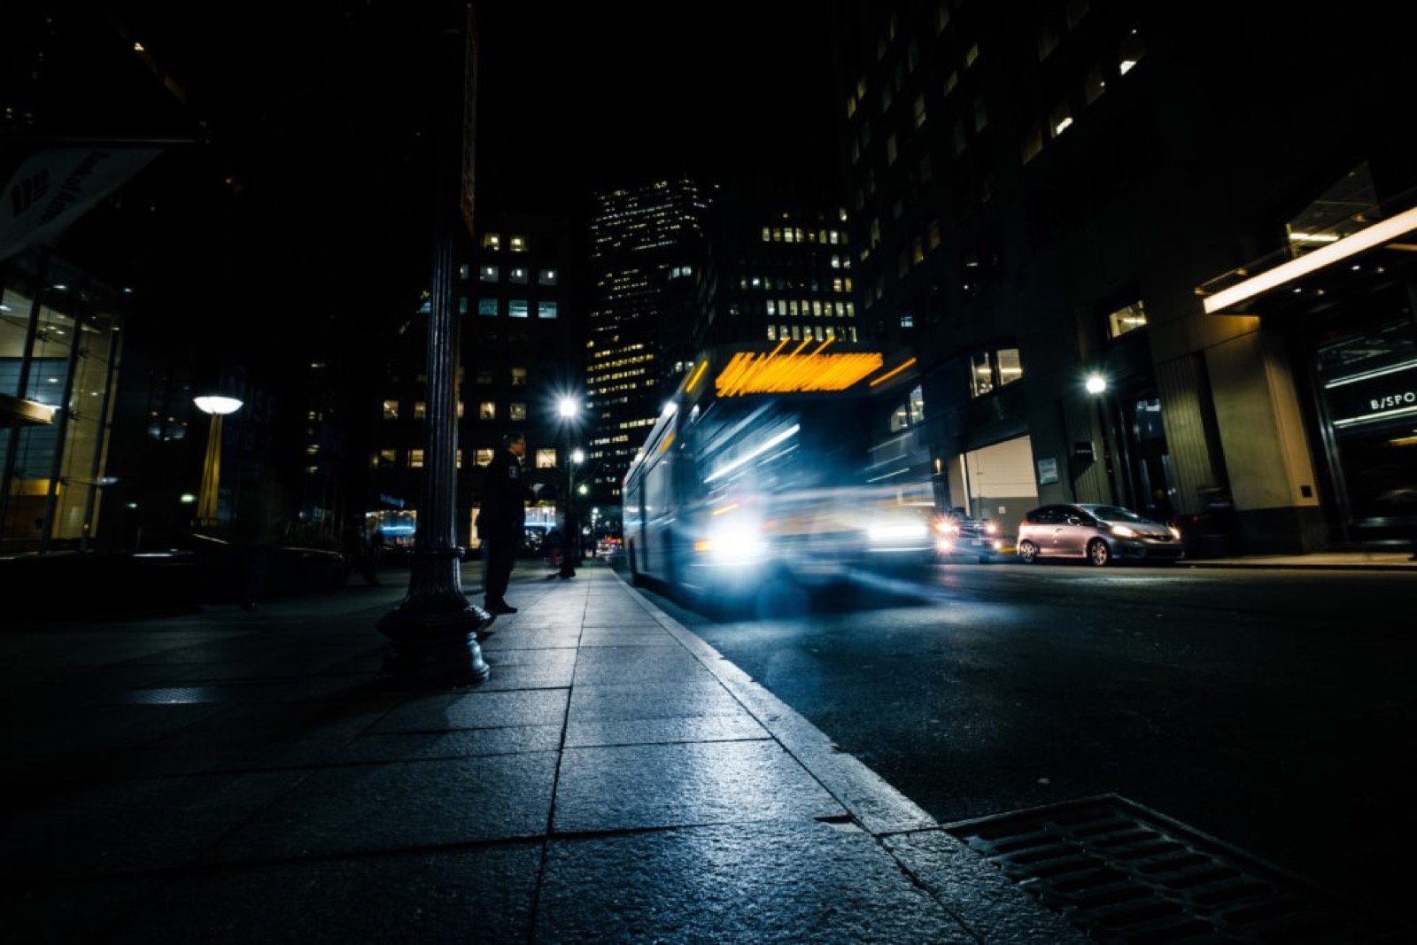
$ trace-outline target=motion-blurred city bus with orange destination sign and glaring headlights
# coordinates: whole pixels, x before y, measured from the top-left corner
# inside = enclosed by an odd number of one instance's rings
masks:
[[[845,343],[704,353],[625,476],[632,578],[737,604],[934,561],[928,462],[874,449],[911,383],[911,360]]]

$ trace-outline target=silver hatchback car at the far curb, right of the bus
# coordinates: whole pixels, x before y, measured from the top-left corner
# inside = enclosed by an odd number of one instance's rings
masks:
[[[1101,567],[1114,560],[1179,561],[1180,531],[1121,506],[1056,503],[1033,509],[1019,524],[1019,561],[1085,558]]]

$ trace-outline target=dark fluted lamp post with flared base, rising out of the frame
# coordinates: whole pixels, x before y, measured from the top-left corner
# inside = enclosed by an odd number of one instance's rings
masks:
[[[414,534],[408,595],[378,622],[388,638],[383,677],[402,689],[480,683],[490,674],[478,633],[492,615],[462,592],[462,548],[456,544],[458,497],[458,299],[456,234],[462,196],[468,98],[473,95],[475,34],[470,9],[452,4],[461,23],[438,37],[441,96],[435,162],[431,300],[428,317],[428,408],[424,483]],[[465,33],[466,31],[466,33]]]

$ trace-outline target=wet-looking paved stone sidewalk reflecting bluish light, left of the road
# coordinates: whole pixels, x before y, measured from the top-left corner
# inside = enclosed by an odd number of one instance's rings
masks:
[[[519,568],[463,690],[378,684],[400,585],[0,628],[0,935],[1085,941],[605,564]]]

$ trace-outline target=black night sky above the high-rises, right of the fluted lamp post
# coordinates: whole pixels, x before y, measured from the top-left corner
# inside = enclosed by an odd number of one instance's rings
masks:
[[[837,198],[822,3],[487,4],[479,190],[575,200],[645,174],[752,169]],[[551,30],[547,30],[547,24]]]

